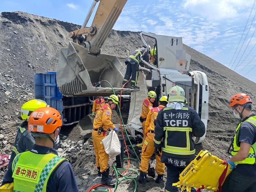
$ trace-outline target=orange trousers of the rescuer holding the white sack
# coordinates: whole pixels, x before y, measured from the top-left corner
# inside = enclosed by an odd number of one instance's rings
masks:
[[[107,136],[106,132],[101,132],[100,135],[98,131],[92,130],[92,139],[94,152],[96,156],[95,166],[100,167],[100,172],[104,172],[108,168],[108,154],[105,152],[102,140]]]

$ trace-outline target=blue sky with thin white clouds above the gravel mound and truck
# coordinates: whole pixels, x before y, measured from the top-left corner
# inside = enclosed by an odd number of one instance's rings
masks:
[[[128,0],[114,29],[183,37],[184,44],[256,83],[255,1]],[[23,11],[82,25],[92,2],[1,0],[0,12]]]

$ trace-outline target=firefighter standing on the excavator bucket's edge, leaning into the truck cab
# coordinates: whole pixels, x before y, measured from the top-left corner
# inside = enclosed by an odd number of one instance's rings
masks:
[[[139,65],[141,64],[141,56],[143,52],[145,52],[146,48],[141,47],[134,52],[125,60],[125,65],[127,65],[126,72],[124,75],[123,85],[129,81],[131,75],[131,88],[132,89],[140,89],[140,87],[137,87],[137,80],[139,76]],[[150,53],[151,47],[148,46],[148,52],[143,55],[143,60],[146,62],[149,62],[149,53]]]

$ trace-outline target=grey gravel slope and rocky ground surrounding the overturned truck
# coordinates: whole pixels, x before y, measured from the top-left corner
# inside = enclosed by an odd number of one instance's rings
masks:
[[[68,46],[68,33],[78,28],[80,26],[72,23],[24,12],[0,14],[0,154],[11,153],[16,127],[21,123],[20,107],[34,98],[33,74],[56,71],[60,48]],[[123,62],[141,44],[139,32],[112,30],[102,52],[116,55]],[[227,159],[227,148],[238,123],[228,108],[229,98],[237,92],[246,92],[255,101],[256,84],[192,48],[186,46],[186,49],[192,59],[190,70],[204,71],[209,81],[209,121],[203,149]],[[118,116],[113,118],[118,125]],[[60,138],[62,148],[58,152],[70,159],[80,191],[100,183],[93,165],[90,133],[85,131],[91,124],[92,117],[87,116],[61,130],[64,137]],[[111,160],[109,165],[113,164]],[[130,166],[138,171],[138,161],[132,161]],[[6,168],[0,168],[0,182],[5,171]],[[164,191],[164,184],[156,184],[153,178],[148,181],[145,186],[139,184],[137,191]],[[133,191],[134,187],[134,183],[127,180],[117,191]]]

